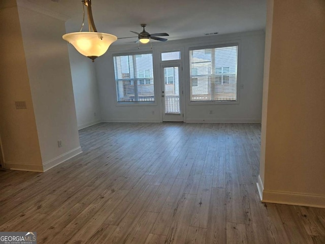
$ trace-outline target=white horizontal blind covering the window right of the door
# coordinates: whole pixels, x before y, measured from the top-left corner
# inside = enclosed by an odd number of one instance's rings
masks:
[[[238,46],[190,50],[190,101],[237,101]]]

